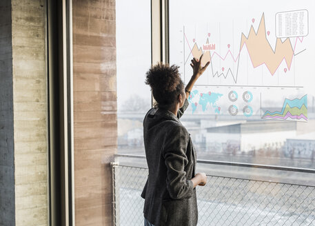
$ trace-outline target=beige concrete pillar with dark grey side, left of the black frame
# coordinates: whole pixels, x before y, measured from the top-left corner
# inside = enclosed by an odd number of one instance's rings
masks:
[[[44,1],[0,11],[0,225],[48,225]]]

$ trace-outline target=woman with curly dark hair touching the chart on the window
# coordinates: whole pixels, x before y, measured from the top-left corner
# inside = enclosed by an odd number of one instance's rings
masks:
[[[143,136],[149,175],[141,194],[145,198],[145,225],[192,226],[198,221],[197,185],[204,173],[195,174],[196,152],[190,134],[179,121],[196,80],[210,62],[192,59],[193,75],[184,89],[176,65],[158,64],[146,76],[157,104],[145,115]]]

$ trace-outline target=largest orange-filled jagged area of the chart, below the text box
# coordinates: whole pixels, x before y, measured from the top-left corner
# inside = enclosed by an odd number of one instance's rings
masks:
[[[273,75],[283,59],[285,59],[285,62],[287,63],[288,70],[291,68],[294,55],[291,42],[289,39],[285,39],[285,41],[282,42],[281,39],[277,38],[276,48],[275,50],[272,49],[266,37],[264,14],[261,18],[257,33],[255,33],[254,28],[251,27],[248,37],[245,37],[245,35],[242,34],[241,50],[244,45],[246,45],[248,53],[250,54],[250,59],[252,60],[254,68],[265,64]]]

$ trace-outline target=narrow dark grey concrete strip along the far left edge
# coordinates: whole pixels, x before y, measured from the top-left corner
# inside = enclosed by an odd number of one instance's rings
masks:
[[[11,1],[0,1],[0,225],[14,225]],[[13,220],[12,220],[13,219]]]

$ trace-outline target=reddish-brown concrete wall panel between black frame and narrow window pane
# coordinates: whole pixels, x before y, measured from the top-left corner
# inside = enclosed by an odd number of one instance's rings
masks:
[[[73,1],[76,225],[112,225],[117,148],[114,0]]]

